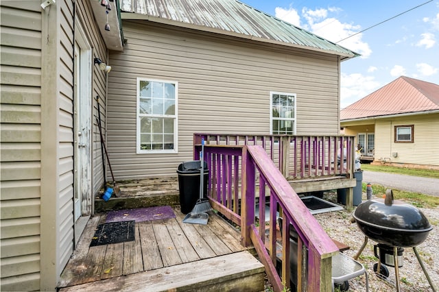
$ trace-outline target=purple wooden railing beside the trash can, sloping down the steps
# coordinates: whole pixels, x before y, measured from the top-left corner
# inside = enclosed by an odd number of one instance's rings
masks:
[[[199,151],[200,145],[195,144],[195,159]],[[243,245],[254,245],[275,291],[289,287],[290,228],[297,233],[297,291],[331,291],[331,256],[337,247],[272,158],[261,145],[206,145],[204,160],[209,165],[211,204],[241,227]],[[278,217],[283,218],[281,226]],[[278,234],[282,239],[280,256],[276,256]],[[276,269],[279,257],[281,276]]]

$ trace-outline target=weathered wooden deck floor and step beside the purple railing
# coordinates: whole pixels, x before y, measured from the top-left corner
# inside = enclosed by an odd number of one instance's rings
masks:
[[[89,247],[106,215],[88,222],[61,275],[60,291],[262,291],[264,268],[239,233],[211,212],[204,225],[176,218],[138,222],[135,239]],[[248,283],[244,278],[250,279]],[[237,279],[237,281],[234,281]]]

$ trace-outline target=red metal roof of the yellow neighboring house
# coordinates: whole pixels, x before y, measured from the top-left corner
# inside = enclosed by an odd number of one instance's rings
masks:
[[[439,85],[401,76],[341,110],[340,120],[439,110]]]

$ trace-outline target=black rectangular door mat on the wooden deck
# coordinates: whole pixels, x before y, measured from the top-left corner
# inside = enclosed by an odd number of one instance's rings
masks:
[[[90,246],[134,241],[135,222],[132,220],[99,224]]]

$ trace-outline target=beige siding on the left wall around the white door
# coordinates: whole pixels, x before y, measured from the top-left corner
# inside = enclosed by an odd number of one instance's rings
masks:
[[[1,291],[55,291],[73,252],[74,16],[106,60],[88,1],[46,10],[40,1],[1,1]],[[96,67],[93,94],[105,105],[106,75]],[[93,161],[102,169],[98,133]],[[93,171],[88,215],[102,174]]]

